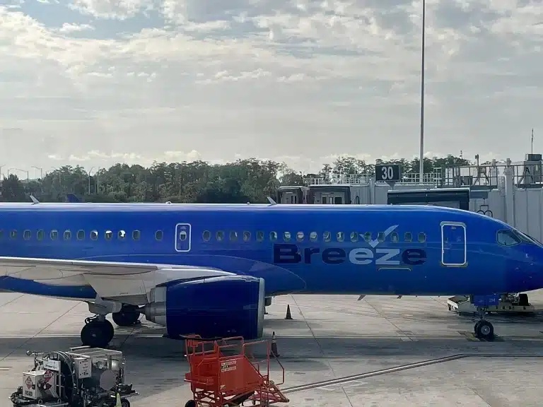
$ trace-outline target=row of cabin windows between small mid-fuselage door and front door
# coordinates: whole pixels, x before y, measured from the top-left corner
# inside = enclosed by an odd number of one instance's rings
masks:
[[[256,240],[257,242],[263,242],[264,241],[264,232],[258,231],[256,233]],[[317,232],[310,232],[309,234],[309,240],[311,242],[317,242],[319,240],[319,234]],[[372,234],[371,232],[366,232],[363,235],[358,232],[351,232],[349,236],[346,236],[344,232],[337,232],[334,236],[334,241],[336,242],[344,242],[345,240],[351,240],[351,242],[358,242],[358,237],[361,237],[361,240],[365,240],[366,242],[372,241]],[[238,240],[238,232],[235,230],[230,230],[229,233],[230,241],[235,242]],[[385,232],[378,232],[377,234],[377,240],[378,242],[384,242],[385,241]],[[211,232],[209,230],[205,230],[202,233],[202,239],[204,242],[209,242],[211,240]],[[245,230],[242,234],[242,239],[244,242],[249,242],[251,240],[251,232],[248,232]],[[271,242],[275,242],[279,239],[279,235],[277,232],[269,232],[269,240]],[[218,242],[222,242],[225,240],[225,232],[222,230],[218,230],[215,233],[215,240]],[[296,240],[297,242],[303,242],[305,240],[305,233],[304,232],[296,232],[295,235],[293,235],[291,232],[283,232],[283,240],[284,242],[291,242],[292,240]],[[420,243],[426,242],[426,233],[420,232],[417,236],[417,240]],[[332,233],[331,232],[323,232],[322,233],[322,241],[324,242],[332,242]],[[397,232],[390,233],[390,241],[393,243],[399,242],[399,234]],[[405,232],[404,233],[404,242],[413,242],[413,235],[411,232]]]

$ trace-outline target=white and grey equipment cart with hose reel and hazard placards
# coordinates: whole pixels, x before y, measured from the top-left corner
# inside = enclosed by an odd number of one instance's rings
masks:
[[[68,352],[27,352],[34,367],[10,396],[13,407],[130,407],[138,393],[124,384],[122,352],[80,346]]]

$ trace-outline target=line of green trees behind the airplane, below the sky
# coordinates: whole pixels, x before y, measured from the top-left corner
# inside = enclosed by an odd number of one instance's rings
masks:
[[[86,202],[265,203],[283,185],[303,185],[308,179],[332,179],[340,174],[373,175],[375,165],[399,164],[402,173],[419,172],[419,160],[377,160],[368,164],[340,157],[316,174],[303,174],[284,163],[248,158],[223,165],[204,161],[153,163],[151,167],[118,163],[88,174],[83,167],[65,165],[40,179],[19,179],[11,173],[0,185],[0,200],[64,202],[74,194]],[[448,155],[425,158],[424,172],[453,165],[470,165],[464,158]]]

